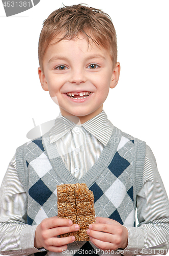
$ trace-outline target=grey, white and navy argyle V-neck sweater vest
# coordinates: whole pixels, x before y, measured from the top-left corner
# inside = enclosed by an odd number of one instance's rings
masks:
[[[45,218],[57,216],[57,185],[86,183],[94,194],[96,217],[135,226],[136,195],[143,185],[145,154],[145,142],[114,126],[98,160],[77,180],[66,168],[55,143],[50,143],[49,133],[20,146],[16,150],[16,165],[27,193],[27,224],[36,225]],[[63,253],[43,251],[35,254]],[[90,241],[75,241],[68,244],[65,254],[104,253]]]

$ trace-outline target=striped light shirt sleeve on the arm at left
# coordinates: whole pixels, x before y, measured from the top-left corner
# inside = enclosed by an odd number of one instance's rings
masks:
[[[27,195],[18,178],[14,156],[0,189],[1,254],[29,255],[41,251],[34,247],[37,225],[26,224],[26,212]]]

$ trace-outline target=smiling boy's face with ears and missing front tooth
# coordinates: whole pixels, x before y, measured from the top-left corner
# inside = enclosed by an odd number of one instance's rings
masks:
[[[102,111],[109,88],[118,83],[120,63],[113,67],[108,50],[83,35],[49,45],[38,69],[42,88],[58,103],[63,116],[86,122]]]

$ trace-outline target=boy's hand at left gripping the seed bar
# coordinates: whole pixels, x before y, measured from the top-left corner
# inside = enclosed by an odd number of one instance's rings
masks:
[[[75,237],[58,238],[60,234],[77,231],[79,225],[71,220],[52,217],[44,219],[35,231],[35,248],[45,248],[53,252],[62,252],[67,249],[67,244],[75,241]]]

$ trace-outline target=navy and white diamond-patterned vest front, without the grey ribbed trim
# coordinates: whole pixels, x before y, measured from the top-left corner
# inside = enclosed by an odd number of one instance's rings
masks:
[[[44,218],[57,216],[57,185],[62,180],[57,176],[44,151],[41,139],[34,140],[27,145],[27,168],[30,177],[34,177],[29,183],[29,208],[27,223],[30,225],[39,224]],[[133,141],[121,140],[119,151],[112,158],[104,175],[99,176],[90,186],[95,197],[96,217],[110,218],[119,223],[134,225],[133,206],[133,180],[132,180],[132,151]],[[35,210],[36,209],[36,210]],[[91,242],[75,241],[68,245],[69,255],[71,249],[83,251],[95,251],[96,247]],[[43,252],[47,255],[54,255],[51,252]],[[38,254],[37,254],[38,255]],[[42,255],[42,254],[41,254]],[[44,254],[45,255],[45,254]],[[98,255],[101,253],[98,252]]]

